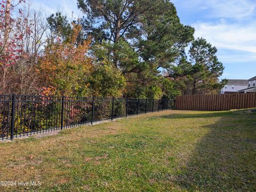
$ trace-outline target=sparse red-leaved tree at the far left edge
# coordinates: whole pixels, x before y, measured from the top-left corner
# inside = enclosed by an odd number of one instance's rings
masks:
[[[19,3],[0,0],[0,93],[6,93],[8,71],[23,51],[21,28],[21,10],[14,17],[12,13]]]

